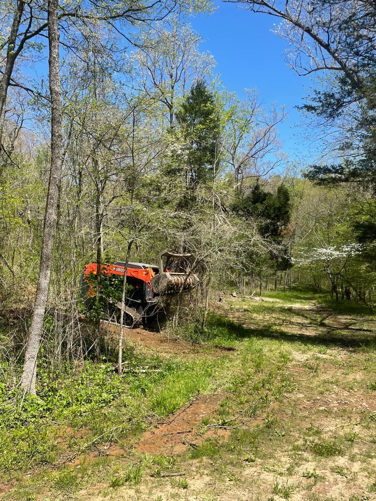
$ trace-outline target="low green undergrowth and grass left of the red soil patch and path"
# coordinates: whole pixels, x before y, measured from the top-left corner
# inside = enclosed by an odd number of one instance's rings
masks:
[[[124,354],[122,376],[110,362],[66,364],[38,372],[38,396],[24,395],[8,371],[0,385],[0,471],[25,470],[81,453],[96,443],[120,442],[207,389],[213,364],[170,362]],[[69,430],[69,431],[67,431]],[[60,438],[59,438],[60,437]]]

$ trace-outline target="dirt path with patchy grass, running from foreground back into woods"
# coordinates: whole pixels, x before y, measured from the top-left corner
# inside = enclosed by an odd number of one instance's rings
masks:
[[[77,461],[38,501],[376,500],[375,319],[314,301],[226,298],[217,311],[224,321],[212,346],[127,334],[141,353],[210,357],[219,391],[148,429],[133,449],[110,444],[99,466]],[[225,341],[235,351],[224,362],[215,344]],[[220,420],[230,426],[205,428]]]

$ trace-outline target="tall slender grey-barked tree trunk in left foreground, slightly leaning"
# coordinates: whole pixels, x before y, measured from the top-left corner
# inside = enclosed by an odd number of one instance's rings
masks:
[[[58,0],[48,2],[49,74],[51,95],[51,168],[37,294],[25,351],[21,385],[25,391],[36,393],[37,357],[42,339],[43,319],[48,301],[52,252],[57,219],[58,184],[62,170],[62,106],[59,61]]]

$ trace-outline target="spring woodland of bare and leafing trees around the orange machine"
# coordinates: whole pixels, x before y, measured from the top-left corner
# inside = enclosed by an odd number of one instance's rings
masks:
[[[283,106],[223,86],[189,23],[206,2],[1,3],[2,366],[18,384],[24,363],[26,391],[37,356],[93,354],[103,311],[99,298],[83,327],[87,263],[192,253],[199,293],[170,312],[202,332],[229,289],[298,284],[372,309],[374,4],[240,3],[250,22],[280,18],[293,69],[321,72],[302,107],[325,138],[317,165],[283,152]]]

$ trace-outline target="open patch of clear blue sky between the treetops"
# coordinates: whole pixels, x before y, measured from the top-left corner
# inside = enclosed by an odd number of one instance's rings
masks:
[[[287,42],[271,30],[278,19],[241,10],[236,4],[218,2],[218,10],[191,20],[203,37],[202,51],[210,51],[224,86],[244,96],[244,89],[257,88],[267,106],[286,106],[288,119],[278,129],[283,150],[291,160],[313,160],[315,152],[304,140],[307,120],[294,107],[303,103],[312,82],[299,77],[285,59]]]

